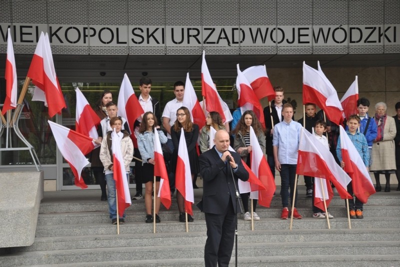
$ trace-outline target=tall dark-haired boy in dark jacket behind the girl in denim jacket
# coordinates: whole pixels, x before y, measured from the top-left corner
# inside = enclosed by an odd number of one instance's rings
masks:
[[[151,79],[148,77],[141,77],[139,80],[139,90],[140,94],[137,96],[137,100],[144,113],[150,111],[157,118],[157,122],[161,122],[161,111],[159,108],[159,102],[157,99],[150,96],[151,91]],[[138,128],[140,126],[140,121],[136,120],[134,122],[135,136],[139,136]],[[134,148],[135,158],[141,159],[139,149]],[[136,195],[132,197],[132,200],[139,200],[143,198],[143,184],[141,182],[142,177],[142,164],[141,161],[134,160],[134,181],[136,184]]]

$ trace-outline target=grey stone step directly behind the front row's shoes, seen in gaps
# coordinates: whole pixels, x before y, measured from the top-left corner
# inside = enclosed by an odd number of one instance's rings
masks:
[[[144,208],[144,207],[143,207]],[[126,221],[144,223],[146,212],[144,209],[133,210],[130,207],[126,209]],[[279,218],[281,208],[264,208],[257,207],[256,212],[261,219]],[[298,208],[298,212],[303,218],[311,218],[312,211],[309,208]],[[330,207],[329,213],[334,216],[333,219],[347,216],[347,211],[344,206]],[[364,206],[364,217],[400,217],[400,205],[398,206]],[[177,221],[177,210],[160,211],[159,216],[161,221]],[[199,210],[193,211],[195,220],[204,220],[204,214]],[[239,217],[241,219],[241,217]],[[49,213],[39,214],[37,225],[59,225],[59,224],[99,224],[109,223],[110,219],[108,211],[93,211],[93,212],[70,212],[70,213]]]

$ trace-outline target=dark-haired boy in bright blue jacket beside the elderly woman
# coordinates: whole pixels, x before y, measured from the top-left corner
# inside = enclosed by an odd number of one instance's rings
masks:
[[[365,97],[361,97],[357,100],[357,110],[358,116],[360,118],[359,132],[365,135],[366,142],[368,144],[368,152],[369,152],[369,163],[368,167],[372,164],[372,141],[376,138],[378,133],[376,123],[373,123],[373,117],[368,116],[368,108],[369,108],[369,100]]]

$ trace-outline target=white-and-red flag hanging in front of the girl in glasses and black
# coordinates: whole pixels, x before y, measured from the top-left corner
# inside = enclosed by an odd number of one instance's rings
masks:
[[[180,130],[178,158],[176,162],[175,187],[184,198],[184,211],[193,216],[191,205],[194,203],[193,184],[191,182],[189,156],[183,128]]]

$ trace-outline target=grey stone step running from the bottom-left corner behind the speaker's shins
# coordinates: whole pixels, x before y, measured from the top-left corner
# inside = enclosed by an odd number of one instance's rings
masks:
[[[238,256],[269,257],[281,256],[284,250],[286,256],[314,256],[323,258],[325,255],[396,255],[400,241],[376,242],[294,242],[264,244],[238,244]],[[2,266],[31,266],[39,264],[63,263],[96,263],[102,261],[130,261],[132,259],[160,260],[160,259],[189,259],[203,257],[204,245],[154,246],[151,250],[146,247],[120,247],[104,249],[79,249],[47,252],[16,253],[13,256],[2,257]],[[23,257],[21,257],[23,254]],[[234,254],[234,252],[233,252]]]

